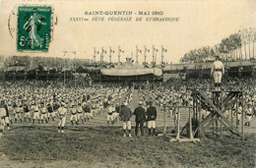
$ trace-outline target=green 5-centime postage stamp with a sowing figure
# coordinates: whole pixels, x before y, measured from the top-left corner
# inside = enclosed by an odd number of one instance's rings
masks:
[[[48,51],[52,35],[51,15],[51,6],[18,7],[18,51]]]

